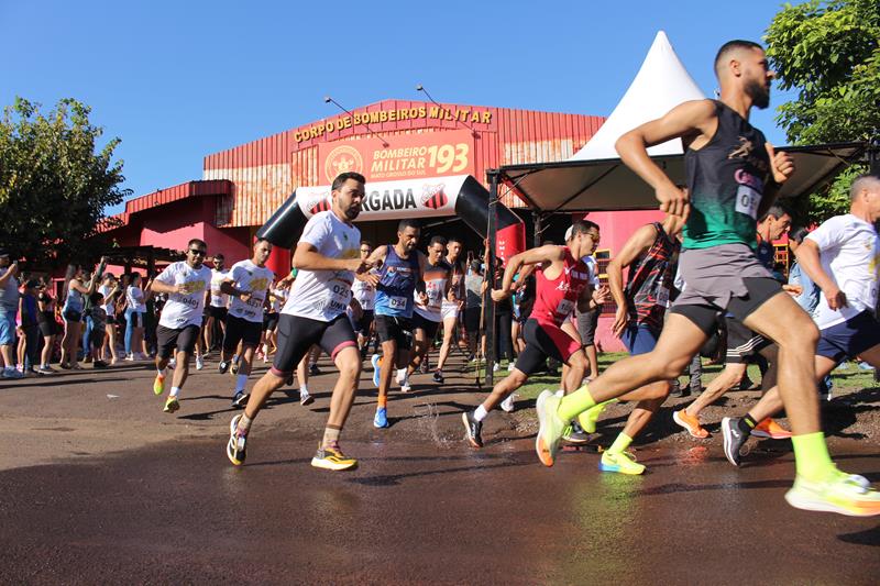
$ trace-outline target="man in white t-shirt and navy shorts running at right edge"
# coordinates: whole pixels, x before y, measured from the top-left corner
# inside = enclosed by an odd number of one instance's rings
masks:
[[[856,356],[875,368],[880,367],[880,322],[873,314],[880,263],[880,239],[873,225],[880,220],[880,177],[858,177],[853,181],[849,197],[848,214],[826,220],[798,247],[801,269],[822,291],[815,311],[820,328],[816,382],[829,375],[843,361]],[[722,421],[724,454],[732,464],[739,465],[739,450],[755,422],[782,409],[782,397],[784,395],[776,387],[745,417]],[[805,496],[799,498],[805,505],[803,508],[816,505]],[[875,501],[870,510],[880,513],[880,502]],[[855,512],[865,513],[868,509],[859,508]]]

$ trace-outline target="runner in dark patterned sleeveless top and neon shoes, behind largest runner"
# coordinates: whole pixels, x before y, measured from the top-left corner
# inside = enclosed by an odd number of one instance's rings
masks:
[[[669,214],[662,223],[653,222],[638,229],[606,268],[608,286],[617,303],[614,334],[620,336],[632,356],[647,354],[657,345],[663,329],[663,316],[669,305],[675,268],[676,239],[681,217]],[[624,268],[629,267],[629,280],[624,289]],[[658,380],[623,397],[638,401],[615,439],[602,454],[598,469],[622,474],[641,474],[645,465],[636,462],[626,449],[632,443],[672,390],[670,380]],[[614,399],[612,399],[614,400]],[[606,403],[600,403],[579,418],[588,433],[596,429],[596,418]]]

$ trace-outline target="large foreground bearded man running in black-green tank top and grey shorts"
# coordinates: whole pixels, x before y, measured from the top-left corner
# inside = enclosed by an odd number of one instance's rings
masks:
[[[828,456],[818,418],[813,354],[818,330],[755,257],[756,220],[773,202],[779,184],[794,173],[791,157],[776,153],[748,123],[752,106],[766,108],[773,73],[760,45],[732,41],[718,51],[721,100],[695,100],[617,141],[624,163],[654,188],[660,208],[686,219],[680,257],[685,290],[672,306],[657,347],[612,365],[588,386],[561,399],[538,397],[536,450],[552,466],[566,422],[597,402],[670,379],[708,339],[715,314],[729,311],[780,347],[780,394],[792,425],[796,463],[790,505],[853,515],[880,515],[880,494],[867,480],[838,472]],[[647,147],[680,137],[688,190],[648,156]],[[865,480],[862,484],[861,480]],[[804,501],[810,507],[802,507]]]

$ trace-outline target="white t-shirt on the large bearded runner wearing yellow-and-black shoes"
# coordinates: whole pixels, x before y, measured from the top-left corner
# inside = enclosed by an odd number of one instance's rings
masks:
[[[308,242],[329,258],[361,257],[361,231],[337,218],[332,210],[312,215],[299,242]],[[352,270],[300,269],[282,313],[332,321],[349,307],[353,284]]]

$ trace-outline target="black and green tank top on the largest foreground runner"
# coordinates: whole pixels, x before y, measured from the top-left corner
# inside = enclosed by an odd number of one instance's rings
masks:
[[[683,248],[721,244],[756,245],[758,206],[770,172],[763,133],[737,112],[713,100],[715,135],[698,151],[684,154],[691,214]]]

